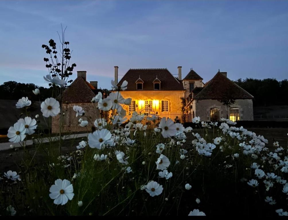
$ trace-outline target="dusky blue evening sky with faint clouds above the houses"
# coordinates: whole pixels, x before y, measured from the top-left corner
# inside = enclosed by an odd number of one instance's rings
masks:
[[[71,62],[110,89],[129,68],[167,68],[203,81],[288,78],[288,1],[0,1],[0,84],[48,87],[42,44],[67,30]]]

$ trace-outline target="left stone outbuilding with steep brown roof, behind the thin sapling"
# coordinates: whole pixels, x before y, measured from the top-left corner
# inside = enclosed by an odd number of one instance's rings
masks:
[[[86,71],[77,71],[77,78],[63,92],[63,132],[90,130],[95,119],[100,117],[101,113],[96,109],[97,104],[92,103],[91,100],[101,89],[98,89],[97,81],[89,83],[86,81],[86,77]],[[74,105],[81,106],[85,110],[85,114],[81,118],[89,122],[87,128],[78,125],[80,116],[76,117],[76,112],[73,110]],[[60,116],[52,118],[52,133],[59,132],[59,123]]]

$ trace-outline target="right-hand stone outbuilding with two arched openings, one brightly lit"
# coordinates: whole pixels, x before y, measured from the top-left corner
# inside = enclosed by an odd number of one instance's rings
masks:
[[[235,101],[230,107],[219,101],[229,99]],[[185,112],[200,116],[201,121],[219,121],[227,116],[232,121],[253,120],[252,99],[251,94],[227,78],[227,72],[218,71],[202,87],[192,89],[186,97]]]

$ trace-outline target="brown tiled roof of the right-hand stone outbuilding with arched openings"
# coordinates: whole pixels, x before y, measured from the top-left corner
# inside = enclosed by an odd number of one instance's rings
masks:
[[[217,72],[193,99],[221,99],[226,97],[231,97],[232,99],[253,98],[251,94],[233,83],[221,72]]]

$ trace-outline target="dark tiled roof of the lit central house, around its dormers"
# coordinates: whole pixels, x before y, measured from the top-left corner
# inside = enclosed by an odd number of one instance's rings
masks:
[[[126,91],[137,91],[136,81],[140,78],[143,80],[143,90],[154,91],[153,81],[156,77],[161,81],[160,91],[179,91],[184,90],[183,84],[179,82],[166,68],[165,69],[130,69],[120,80],[118,85],[123,81],[128,82]],[[159,90],[158,90],[159,91]]]

